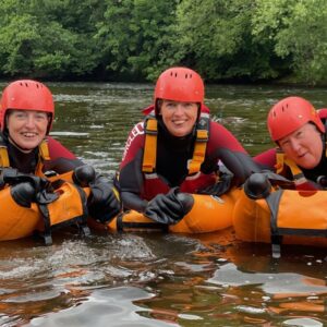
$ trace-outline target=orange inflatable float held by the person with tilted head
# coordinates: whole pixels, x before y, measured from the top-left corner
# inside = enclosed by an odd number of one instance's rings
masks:
[[[263,178],[255,173],[249,181]],[[267,183],[256,193],[246,186],[233,210],[237,239],[271,243],[276,256],[281,243],[327,246],[327,191],[274,189]]]

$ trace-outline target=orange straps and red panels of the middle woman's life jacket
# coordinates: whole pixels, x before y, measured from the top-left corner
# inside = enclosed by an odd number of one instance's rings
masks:
[[[205,160],[207,143],[209,140],[209,114],[201,112],[196,124],[196,140],[192,159],[187,162],[187,177],[180,185],[181,192],[194,193],[195,190],[205,187],[216,181],[216,174],[204,174],[201,166]],[[145,175],[143,197],[153,198],[158,193],[167,193],[168,184],[156,173],[158,121],[149,114],[144,124],[145,145],[142,162],[142,172]]]

